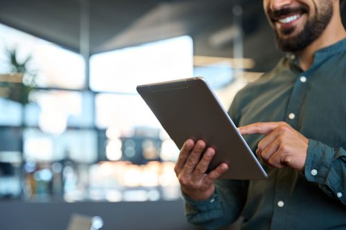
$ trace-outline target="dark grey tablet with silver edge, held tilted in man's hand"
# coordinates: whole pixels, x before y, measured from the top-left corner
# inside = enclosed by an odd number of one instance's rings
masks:
[[[208,171],[225,162],[223,179],[261,180],[266,172],[203,77],[137,86],[179,149],[191,138],[215,149]]]

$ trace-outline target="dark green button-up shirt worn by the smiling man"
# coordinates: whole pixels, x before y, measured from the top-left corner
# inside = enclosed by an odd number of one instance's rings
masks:
[[[346,39],[318,50],[307,71],[287,55],[229,113],[237,126],[284,121],[309,138],[304,173],[262,164],[266,180],[219,180],[210,200],[185,198],[188,221],[215,229],[242,215],[242,229],[346,229]],[[263,137],[244,138],[255,151]]]

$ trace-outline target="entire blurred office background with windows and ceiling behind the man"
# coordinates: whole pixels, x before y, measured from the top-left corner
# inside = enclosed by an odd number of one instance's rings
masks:
[[[0,0],[0,220],[194,229],[136,86],[203,76],[228,109],[282,55],[258,0]]]

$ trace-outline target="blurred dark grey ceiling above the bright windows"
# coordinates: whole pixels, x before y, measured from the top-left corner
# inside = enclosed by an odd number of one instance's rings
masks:
[[[233,57],[232,37],[219,43],[212,38],[234,28],[237,5],[244,57],[255,60],[254,71],[269,70],[282,54],[259,0],[0,0],[0,23],[75,52],[87,46],[91,55],[190,35],[195,55]]]

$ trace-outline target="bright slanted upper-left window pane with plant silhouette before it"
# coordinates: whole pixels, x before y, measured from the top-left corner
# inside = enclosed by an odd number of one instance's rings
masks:
[[[84,88],[85,61],[81,55],[0,24],[0,72],[12,72],[7,50],[16,50],[17,60],[28,57],[28,71],[40,87]],[[25,81],[25,77],[24,77]]]

